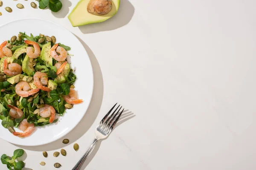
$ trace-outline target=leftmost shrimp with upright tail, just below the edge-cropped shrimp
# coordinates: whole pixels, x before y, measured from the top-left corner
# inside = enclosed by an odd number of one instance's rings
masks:
[[[16,76],[18,74],[21,74],[22,67],[18,63],[10,63],[8,65],[7,58],[6,58],[3,61],[3,72],[8,76]]]

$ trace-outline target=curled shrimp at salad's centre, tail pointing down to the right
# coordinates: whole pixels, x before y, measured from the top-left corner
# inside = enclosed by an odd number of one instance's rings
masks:
[[[41,73],[40,71],[34,74],[34,84],[37,88],[43,91],[51,91],[51,89],[45,87],[47,85],[48,77],[46,73]]]

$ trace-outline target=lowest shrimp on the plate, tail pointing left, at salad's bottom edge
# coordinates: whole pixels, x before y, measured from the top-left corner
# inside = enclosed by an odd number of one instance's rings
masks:
[[[33,123],[29,123],[27,119],[23,119],[20,122],[20,125],[18,128],[23,132],[13,132],[12,134],[14,136],[27,137],[35,130],[35,125]]]

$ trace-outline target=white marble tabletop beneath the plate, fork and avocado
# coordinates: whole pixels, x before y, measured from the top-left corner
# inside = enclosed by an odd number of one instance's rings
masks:
[[[78,36],[92,61],[95,88],[86,116],[65,136],[69,145],[60,139],[22,147],[0,139],[0,155],[21,147],[25,170],[52,170],[55,162],[70,170],[87,150],[96,124],[120,102],[127,117],[83,169],[256,169],[255,0],[121,0],[115,17],[76,28],[67,14],[78,0],[62,0],[57,14],[31,8],[32,0],[2,1],[1,24],[40,17]],[[80,145],[77,153],[73,143]],[[62,147],[67,156],[53,158]]]

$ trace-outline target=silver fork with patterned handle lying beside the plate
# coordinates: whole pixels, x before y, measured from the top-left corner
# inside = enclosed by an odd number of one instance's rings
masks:
[[[108,113],[104,116],[104,118],[99,122],[99,125],[96,127],[96,130],[95,130],[95,138],[93,139],[92,144],[87,149],[87,151],[84,153],[84,155],[81,157],[81,159],[76,163],[76,166],[73,167],[72,170],[80,170],[80,168],[84,164],[85,159],[87,159],[87,157],[89,156],[89,154],[95,147],[96,143],[100,139],[105,139],[111,133],[111,131],[113,130],[113,127],[116,125],[116,122],[118,121],[118,119],[122,115],[122,112],[124,111],[124,108],[123,108],[123,110],[119,113],[119,111],[122,108],[122,106],[119,108],[120,105],[115,109],[115,111],[113,111],[113,109],[116,107],[116,105],[117,105],[117,103],[110,109],[110,111],[108,111]],[[119,108],[119,110],[117,111],[118,108]],[[113,113],[110,116],[108,116],[112,111],[113,111]],[[119,115],[116,118],[116,115],[118,113],[119,113]]]

